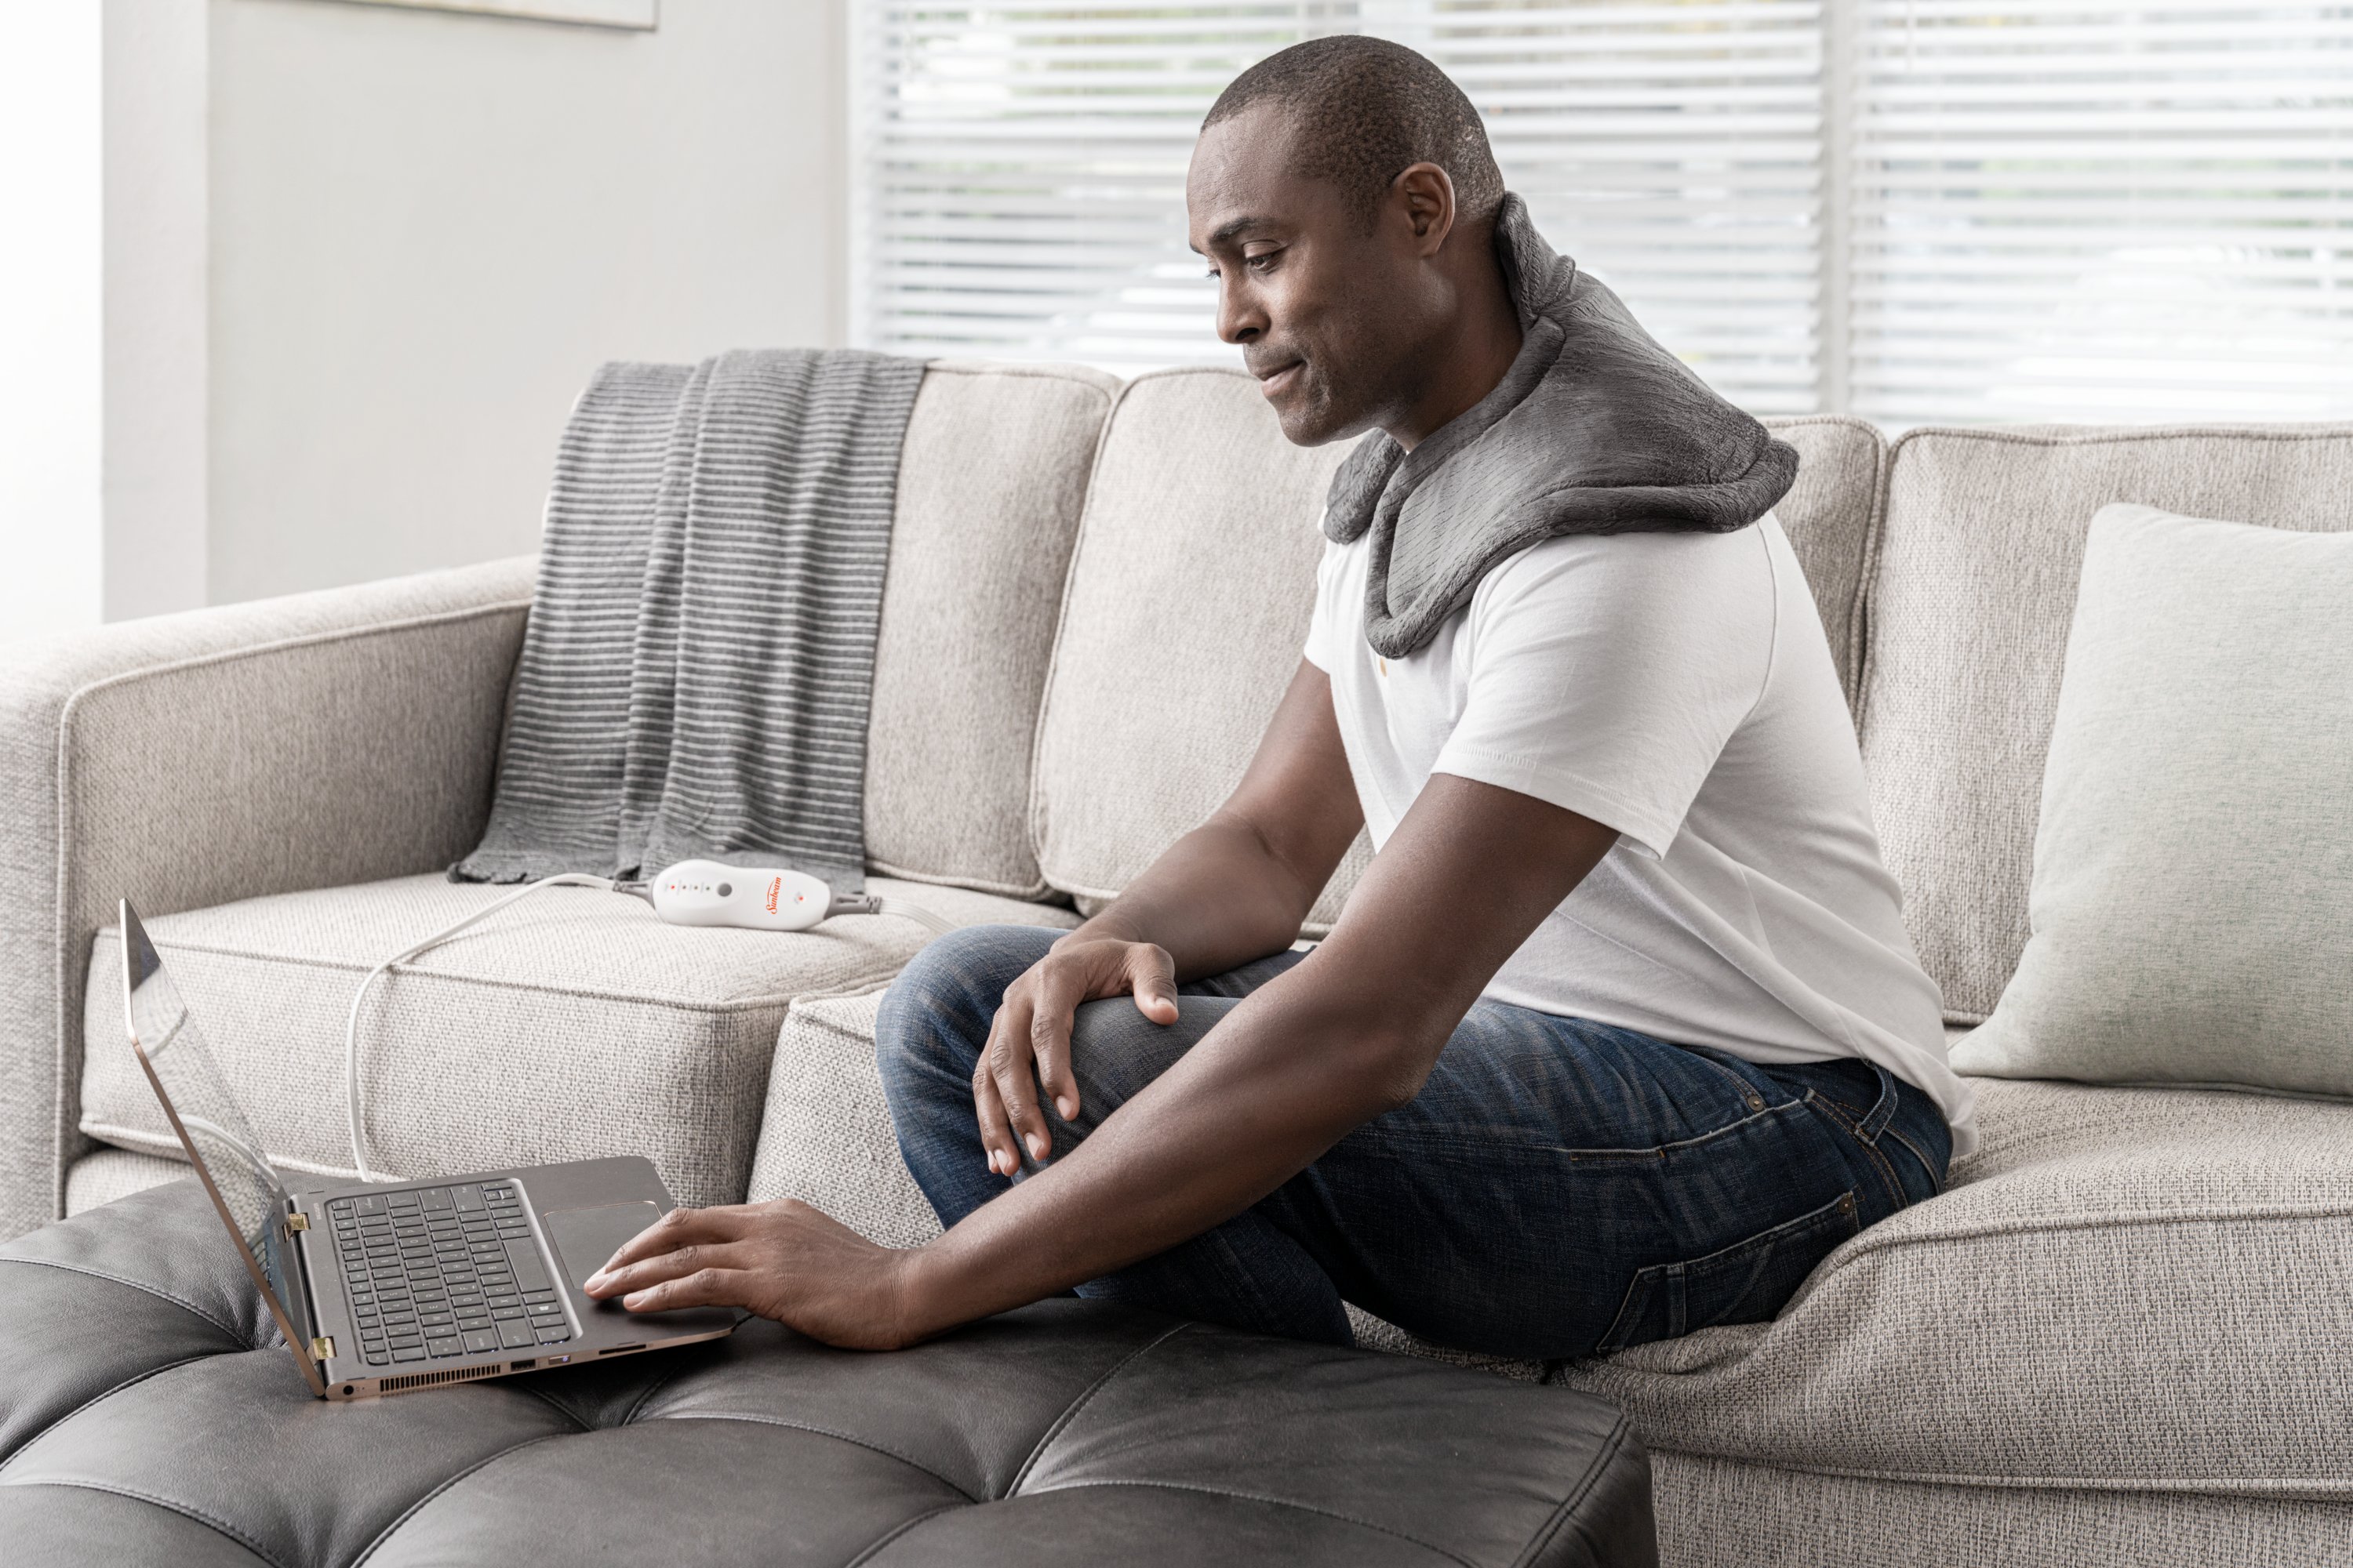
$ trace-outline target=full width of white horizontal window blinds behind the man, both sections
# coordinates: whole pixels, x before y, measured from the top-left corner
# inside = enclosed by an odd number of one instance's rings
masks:
[[[852,334],[1235,362],[1200,118],[1367,31],[1435,59],[1539,228],[1769,411],[2353,414],[2353,5],[852,5]]]

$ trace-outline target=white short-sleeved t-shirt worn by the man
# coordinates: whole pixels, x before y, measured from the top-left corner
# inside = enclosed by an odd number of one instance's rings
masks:
[[[1367,538],[1325,545],[1306,656],[1372,846],[1431,773],[1619,832],[1485,994],[1765,1065],[1859,1056],[1927,1091],[1969,1152],[1944,999],[1781,524],[1541,541],[1407,658],[1365,644]]]

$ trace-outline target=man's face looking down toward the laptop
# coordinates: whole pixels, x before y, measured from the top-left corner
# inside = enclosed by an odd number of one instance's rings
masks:
[[[1219,280],[1217,336],[1242,346],[1282,435],[1320,447],[1384,423],[1407,395],[1426,301],[1402,209],[1367,214],[1297,174],[1289,141],[1273,106],[1212,125],[1186,219]]]

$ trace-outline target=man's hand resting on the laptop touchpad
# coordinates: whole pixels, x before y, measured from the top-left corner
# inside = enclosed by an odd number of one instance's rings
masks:
[[[586,1291],[631,1312],[748,1307],[826,1345],[899,1349],[925,1338],[908,1312],[915,1258],[793,1199],[673,1208]]]

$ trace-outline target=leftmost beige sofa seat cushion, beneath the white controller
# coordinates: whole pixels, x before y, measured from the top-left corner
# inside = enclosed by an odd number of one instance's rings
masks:
[[[958,922],[1068,926],[1052,905],[873,879]],[[384,957],[504,889],[400,877],[148,922],[275,1161],[348,1173],[344,1018]],[[927,940],[894,917],[816,931],[666,926],[616,893],[555,889],[376,980],[360,1023],[369,1157],[435,1175],[645,1154],[682,1204],[744,1197],[767,1063],[793,997],[878,985]],[[82,1131],[172,1150],[122,1044],[120,936],[99,933]]]

